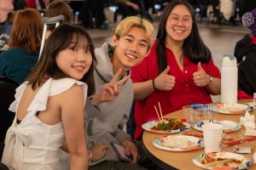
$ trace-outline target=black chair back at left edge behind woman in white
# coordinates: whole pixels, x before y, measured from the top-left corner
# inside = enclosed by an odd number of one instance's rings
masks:
[[[0,142],[15,118],[15,113],[9,111],[9,105],[15,100],[15,89],[20,84],[8,77],[0,77]]]

